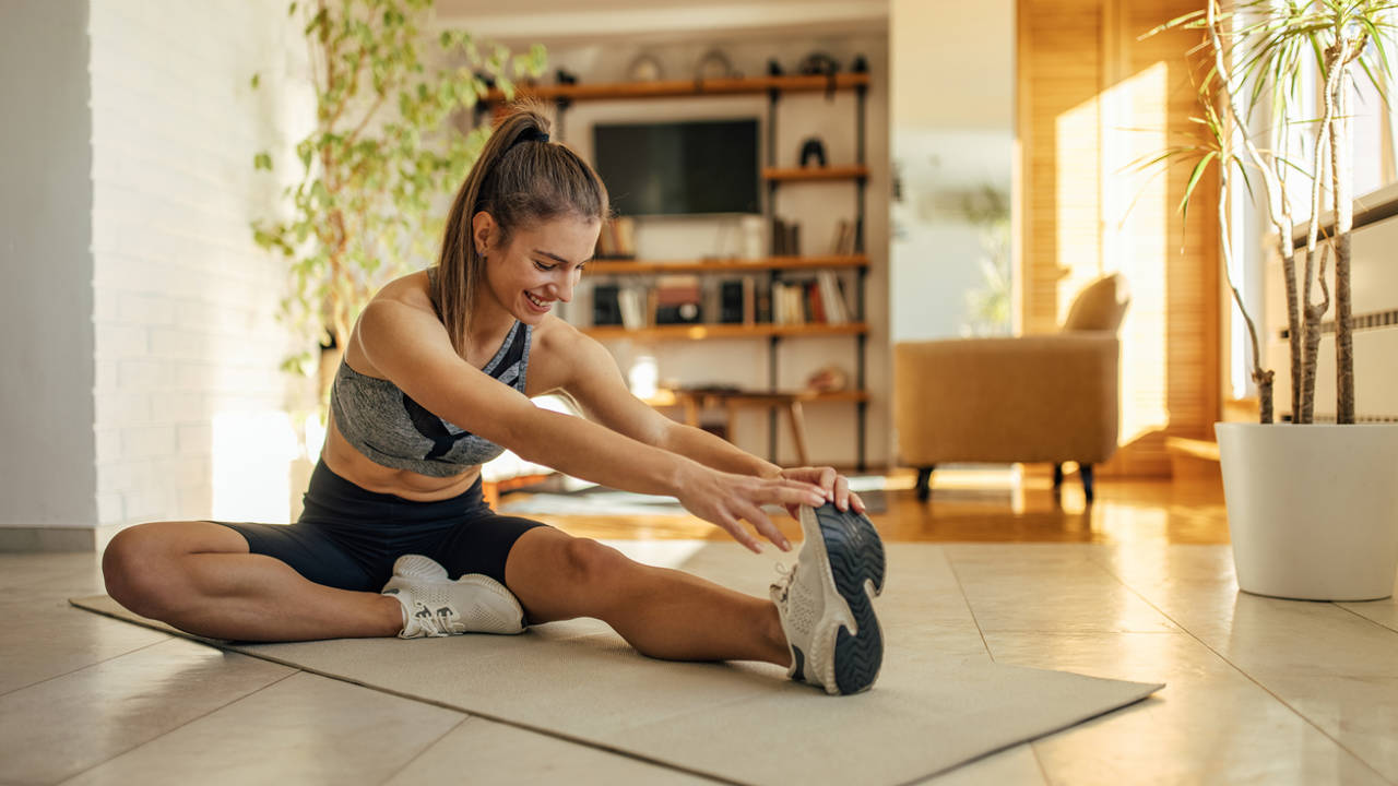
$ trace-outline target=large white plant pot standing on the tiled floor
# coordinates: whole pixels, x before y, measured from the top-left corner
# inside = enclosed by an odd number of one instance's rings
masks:
[[[1213,425],[1237,586],[1377,600],[1398,573],[1398,425]]]

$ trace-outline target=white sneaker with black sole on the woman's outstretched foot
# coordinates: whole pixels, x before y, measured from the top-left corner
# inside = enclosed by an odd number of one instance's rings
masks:
[[[772,601],[791,648],[787,677],[828,694],[857,694],[878,678],[884,635],[872,594],[884,592],[884,543],[868,519],[828,502],[801,506],[805,543],[795,565],[772,585]]]

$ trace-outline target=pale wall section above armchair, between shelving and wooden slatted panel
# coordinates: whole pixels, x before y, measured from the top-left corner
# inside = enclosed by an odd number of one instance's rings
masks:
[[[1014,157],[1015,3],[891,0],[889,124],[893,341],[958,336],[979,288],[980,242],[953,210],[981,186],[1008,203]]]

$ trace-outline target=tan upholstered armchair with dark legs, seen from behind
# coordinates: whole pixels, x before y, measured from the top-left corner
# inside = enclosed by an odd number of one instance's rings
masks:
[[[917,467],[917,498],[945,463],[1076,462],[1088,501],[1092,466],[1117,449],[1120,276],[1089,284],[1060,333],[909,341],[893,347],[899,456]]]

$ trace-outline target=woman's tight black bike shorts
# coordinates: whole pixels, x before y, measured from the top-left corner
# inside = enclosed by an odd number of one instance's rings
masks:
[[[499,516],[481,481],[452,499],[415,502],[365,491],[316,464],[294,524],[214,522],[247,538],[253,554],[275,557],[330,587],[379,592],[404,554],[424,554],[447,576],[485,573],[505,585],[505,561],[521,534],[548,524]],[[507,586],[507,585],[506,585]]]

